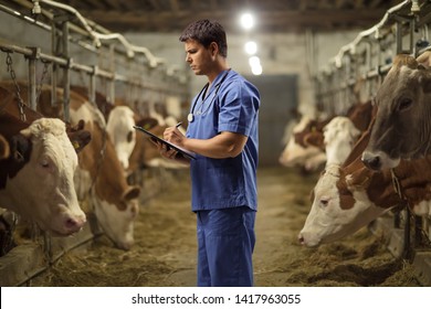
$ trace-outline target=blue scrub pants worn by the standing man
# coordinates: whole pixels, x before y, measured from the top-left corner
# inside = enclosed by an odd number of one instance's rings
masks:
[[[256,212],[250,207],[197,211],[198,286],[253,286]]]

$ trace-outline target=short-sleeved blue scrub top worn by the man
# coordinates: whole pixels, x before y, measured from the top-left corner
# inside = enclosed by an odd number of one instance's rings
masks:
[[[232,70],[221,72],[208,90],[203,103],[199,95],[193,99],[190,107],[193,121],[189,122],[186,136],[210,139],[231,131],[248,136],[248,141],[235,158],[211,159],[197,154],[197,160],[191,160],[192,211],[236,206],[257,210],[259,90]]]

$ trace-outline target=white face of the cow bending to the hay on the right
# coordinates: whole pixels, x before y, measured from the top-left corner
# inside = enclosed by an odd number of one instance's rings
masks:
[[[316,247],[338,241],[385,212],[369,201],[365,190],[353,190],[353,195],[344,199],[337,188],[339,178],[339,166],[329,164],[314,188],[312,210],[298,235],[303,245]]]

